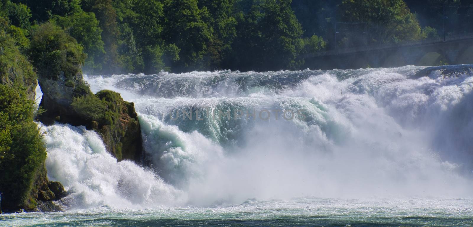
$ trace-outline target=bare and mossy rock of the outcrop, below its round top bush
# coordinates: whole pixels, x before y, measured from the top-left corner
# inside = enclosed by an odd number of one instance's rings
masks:
[[[99,133],[107,150],[118,161],[140,162],[141,130],[133,103],[124,101],[114,91],[92,94],[80,74],[71,79],[61,74],[58,80],[39,75],[38,81],[44,94],[40,104],[45,110],[41,122],[84,125]]]

